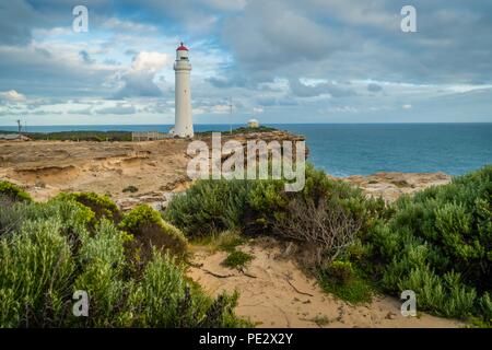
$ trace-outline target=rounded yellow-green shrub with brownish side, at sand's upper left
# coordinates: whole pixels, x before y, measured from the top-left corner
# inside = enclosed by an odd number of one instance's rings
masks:
[[[132,234],[143,247],[143,255],[150,257],[152,246],[184,255],[187,241],[179,229],[165,222],[159,211],[147,205],[133,208],[121,220],[119,228]]]

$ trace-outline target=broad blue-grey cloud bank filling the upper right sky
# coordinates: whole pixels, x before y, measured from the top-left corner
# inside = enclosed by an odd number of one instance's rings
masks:
[[[410,34],[400,31],[403,4],[251,0],[225,21],[224,39],[253,74],[420,83],[492,80],[492,2],[412,1],[418,33]]]

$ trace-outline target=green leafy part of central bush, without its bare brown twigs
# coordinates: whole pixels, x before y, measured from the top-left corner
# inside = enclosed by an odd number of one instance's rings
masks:
[[[185,195],[175,196],[164,218],[188,237],[200,237],[225,230],[241,230],[245,234],[274,234],[274,226],[292,217],[296,206],[292,201],[321,201],[345,213],[348,220],[360,222],[360,229],[372,226],[373,215],[384,210],[384,202],[366,200],[361,190],[326,174],[306,167],[306,186],[300,192],[285,192],[284,182],[265,180],[198,180]],[[307,221],[307,220],[306,220]],[[276,231],[276,232],[274,232]],[[356,231],[356,230],[354,230]],[[303,230],[296,234],[301,241]]]

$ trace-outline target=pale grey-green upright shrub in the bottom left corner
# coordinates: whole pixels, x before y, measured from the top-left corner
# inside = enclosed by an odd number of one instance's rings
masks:
[[[20,232],[0,240],[0,327],[62,320],[75,265],[61,225],[56,218],[25,221]]]

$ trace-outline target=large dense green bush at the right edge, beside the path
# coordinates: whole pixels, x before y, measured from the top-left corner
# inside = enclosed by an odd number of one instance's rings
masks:
[[[413,290],[421,310],[491,320],[492,166],[403,196],[363,238],[365,270],[384,290]]]

